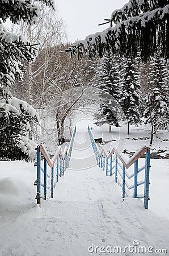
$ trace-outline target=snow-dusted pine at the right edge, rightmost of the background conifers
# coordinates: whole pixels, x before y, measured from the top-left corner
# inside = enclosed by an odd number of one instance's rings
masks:
[[[148,77],[149,91],[145,97],[145,123],[151,123],[151,141],[160,126],[169,121],[169,71],[166,61],[156,53],[151,60]]]

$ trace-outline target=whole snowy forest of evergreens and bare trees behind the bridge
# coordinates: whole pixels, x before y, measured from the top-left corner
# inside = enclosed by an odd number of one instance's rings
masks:
[[[1,159],[32,161],[37,143],[69,141],[74,114],[90,106],[110,132],[150,124],[152,144],[158,129],[168,130],[167,1],[130,0],[112,13],[105,38],[73,46],[52,1],[15,2],[14,11],[1,1],[0,12]]]

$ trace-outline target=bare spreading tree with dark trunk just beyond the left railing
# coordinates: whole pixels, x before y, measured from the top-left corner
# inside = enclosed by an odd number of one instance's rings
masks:
[[[67,46],[66,46],[67,47]],[[43,102],[45,112],[52,115],[56,122],[54,129],[57,130],[56,141],[58,144],[65,142],[65,121],[71,119],[75,110],[83,105],[83,96],[92,85],[94,63],[87,58],[81,61],[70,59],[67,55],[58,53],[58,59],[46,73],[46,85]]]

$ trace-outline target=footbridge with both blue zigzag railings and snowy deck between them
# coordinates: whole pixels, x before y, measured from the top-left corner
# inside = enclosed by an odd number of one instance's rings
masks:
[[[88,126],[85,133],[78,132],[75,127],[69,147],[65,147],[64,150],[61,146],[58,147],[52,159],[49,158],[43,144],[37,146],[36,150],[37,180],[35,185],[37,185],[37,204],[41,203],[41,199],[53,198],[54,188],[57,187],[61,177],[65,175],[65,171],[69,172],[67,175],[74,176],[72,188],[75,191],[73,192],[70,188],[69,193],[74,193],[71,197],[76,197],[79,188],[82,189],[83,185],[85,191],[85,184],[88,183],[88,180],[84,182],[86,179],[84,173],[92,179],[93,171],[95,171],[98,175],[104,172],[105,176],[108,176],[109,179],[112,179],[114,183],[121,187],[122,199],[125,197],[143,199],[143,207],[148,209],[150,149],[146,146],[141,147],[129,160],[126,160],[117,148],[112,148],[111,152],[108,153],[102,147],[99,147],[94,140],[91,128]],[[144,154],[145,159],[143,160],[141,157]],[[140,159],[143,160],[141,166]],[[75,186],[75,184],[77,185]],[[96,184],[96,187],[98,187],[98,184]],[[95,191],[93,186],[92,189]],[[78,193],[79,196],[81,195]]]

